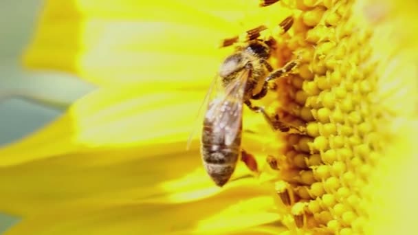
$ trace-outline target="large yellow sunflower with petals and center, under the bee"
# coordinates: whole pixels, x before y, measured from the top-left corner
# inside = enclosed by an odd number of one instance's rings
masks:
[[[24,65],[98,89],[0,149],[0,210],[21,217],[6,234],[416,233],[416,3],[258,5],[47,1]],[[267,30],[272,64],[299,64],[260,102],[298,131],[271,131],[245,110],[258,170],[238,164],[218,188],[199,145],[185,150],[234,49],[215,45],[287,16],[289,32]]]

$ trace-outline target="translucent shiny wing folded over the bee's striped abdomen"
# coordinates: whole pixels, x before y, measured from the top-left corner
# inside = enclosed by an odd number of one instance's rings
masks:
[[[224,93],[209,103],[205,118],[209,122],[217,123],[216,127],[219,129],[216,131],[225,137],[226,145],[232,144],[241,131],[243,98],[249,76],[250,70],[241,70]]]

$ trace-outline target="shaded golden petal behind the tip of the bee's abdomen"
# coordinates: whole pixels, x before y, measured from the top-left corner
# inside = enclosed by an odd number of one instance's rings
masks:
[[[257,139],[248,142],[261,144]],[[218,193],[220,188],[214,186],[201,166],[199,152],[185,152],[184,146],[186,141],[97,148],[2,167],[0,210],[22,216],[64,204],[181,203]],[[226,188],[241,186],[241,179],[248,181],[251,174],[240,162]]]

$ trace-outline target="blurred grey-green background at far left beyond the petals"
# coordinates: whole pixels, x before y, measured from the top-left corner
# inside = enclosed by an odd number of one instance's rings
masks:
[[[0,0],[0,147],[51,122],[94,89],[68,74],[21,67],[20,57],[42,4],[41,0]],[[0,234],[17,221],[0,212]]]

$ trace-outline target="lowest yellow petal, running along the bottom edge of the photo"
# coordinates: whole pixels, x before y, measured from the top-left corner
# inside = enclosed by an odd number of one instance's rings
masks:
[[[228,234],[278,221],[272,207],[269,191],[248,182],[188,203],[56,208],[23,219],[6,234]]]

